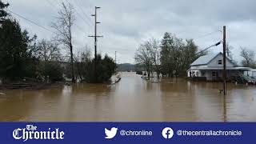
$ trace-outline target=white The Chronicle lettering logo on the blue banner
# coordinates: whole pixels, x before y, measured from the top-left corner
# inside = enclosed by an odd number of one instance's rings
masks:
[[[42,140],[62,140],[64,139],[64,131],[59,130],[59,128],[48,128],[48,130],[37,130],[37,126],[26,125],[26,128],[18,128],[13,131],[13,137],[17,140],[27,140],[32,139],[42,139]]]

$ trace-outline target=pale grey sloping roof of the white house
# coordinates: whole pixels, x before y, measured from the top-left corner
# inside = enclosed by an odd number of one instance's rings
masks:
[[[217,54],[206,54],[201,57],[199,57],[197,60],[195,60],[193,63],[190,64],[190,66],[198,66],[198,65],[207,65],[211,60],[216,58],[218,54],[222,54],[222,52],[219,52]],[[228,60],[230,58],[226,57]],[[230,60],[231,62],[231,60]]]

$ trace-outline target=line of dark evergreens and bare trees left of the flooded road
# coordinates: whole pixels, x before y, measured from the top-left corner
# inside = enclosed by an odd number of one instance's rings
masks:
[[[74,54],[74,7],[62,2],[58,18],[51,23],[54,37],[38,40],[22,30],[18,21],[6,11],[8,3],[0,1],[0,78],[2,82],[32,80],[56,82],[70,78],[85,82],[106,82],[114,74],[115,63],[107,55],[91,58],[90,49]],[[67,54],[62,54],[67,50]],[[96,69],[94,64],[97,63]],[[94,78],[97,73],[97,78]]]

